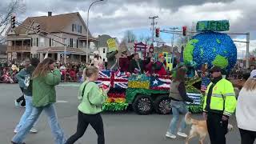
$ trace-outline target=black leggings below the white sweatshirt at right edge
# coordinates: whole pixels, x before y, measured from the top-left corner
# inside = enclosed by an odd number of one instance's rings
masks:
[[[256,131],[239,129],[241,135],[241,144],[254,144]]]

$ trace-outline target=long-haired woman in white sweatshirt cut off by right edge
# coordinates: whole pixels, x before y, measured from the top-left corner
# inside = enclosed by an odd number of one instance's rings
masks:
[[[256,138],[256,70],[242,87],[238,96],[236,118],[241,135],[241,144],[254,144]]]

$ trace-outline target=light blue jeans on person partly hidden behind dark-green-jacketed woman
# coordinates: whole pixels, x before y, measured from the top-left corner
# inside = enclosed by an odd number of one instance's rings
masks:
[[[16,126],[15,130],[19,131],[22,125],[26,122],[26,119],[29,118],[30,114],[32,113],[33,105],[32,105],[32,96],[26,96],[24,95],[26,100],[26,109],[24,113],[22,114],[21,120],[18,122],[18,125]]]

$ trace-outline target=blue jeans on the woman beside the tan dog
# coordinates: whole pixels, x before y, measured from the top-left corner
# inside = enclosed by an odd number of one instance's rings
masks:
[[[170,126],[169,126],[168,131],[171,134],[176,134],[177,127],[178,127],[178,121],[179,121],[179,113],[186,114],[188,112],[188,110],[186,108],[185,102],[178,102],[178,101],[172,100],[170,102],[170,106],[172,108],[173,118],[170,121]],[[179,127],[178,131],[184,133],[185,129],[186,129],[185,118],[182,118],[181,126]]]

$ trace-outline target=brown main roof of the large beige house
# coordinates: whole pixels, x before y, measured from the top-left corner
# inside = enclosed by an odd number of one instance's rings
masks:
[[[61,32],[65,26],[69,25],[75,18],[82,18],[81,15],[76,13],[59,14],[52,16],[39,16],[26,18],[23,25],[30,26],[31,22],[40,24],[40,29],[49,33]],[[83,20],[82,20],[83,21]],[[86,26],[86,24],[85,24]],[[16,34],[26,34],[26,29],[22,26],[18,26],[15,30]],[[91,34],[90,34],[91,35]]]

